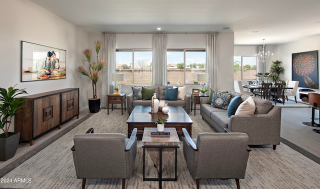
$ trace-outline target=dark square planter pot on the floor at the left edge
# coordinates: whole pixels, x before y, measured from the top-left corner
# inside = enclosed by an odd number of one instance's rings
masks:
[[[0,161],[6,161],[15,155],[18,148],[20,132],[8,132],[14,133],[13,135],[0,138]],[[4,135],[4,133],[2,133]]]

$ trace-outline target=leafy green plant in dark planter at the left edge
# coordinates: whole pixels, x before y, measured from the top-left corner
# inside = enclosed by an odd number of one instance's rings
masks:
[[[16,85],[16,84],[15,84]],[[19,144],[20,132],[9,132],[12,117],[22,107],[23,97],[19,94],[27,93],[24,89],[10,86],[8,90],[0,87],[0,161],[6,161],[14,156]]]

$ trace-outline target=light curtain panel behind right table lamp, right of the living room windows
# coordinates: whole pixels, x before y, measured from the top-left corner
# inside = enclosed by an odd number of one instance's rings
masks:
[[[218,90],[217,33],[206,34],[206,72],[209,74],[208,87]]]

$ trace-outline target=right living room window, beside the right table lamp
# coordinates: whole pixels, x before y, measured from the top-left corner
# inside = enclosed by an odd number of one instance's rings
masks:
[[[168,84],[193,84],[196,73],[205,73],[205,49],[167,49]]]

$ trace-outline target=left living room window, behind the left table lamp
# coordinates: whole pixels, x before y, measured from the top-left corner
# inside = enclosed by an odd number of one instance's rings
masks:
[[[115,72],[124,73],[121,84],[150,84],[152,81],[151,49],[116,49]]]

